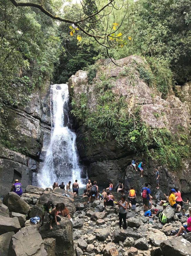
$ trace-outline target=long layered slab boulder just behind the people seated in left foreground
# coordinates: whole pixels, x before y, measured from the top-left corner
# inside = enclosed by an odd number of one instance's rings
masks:
[[[38,202],[36,203],[36,206],[42,208],[43,204],[47,203],[48,200],[52,200],[54,206],[56,206],[57,203],[64,203],[65,206],[68,208],[68,211],[71,217],[73,216],[73,213],[75,211],[73,198],[65,197],[60,193],[52,193],[51,191],[45,190],[44,193],[39,198]]]

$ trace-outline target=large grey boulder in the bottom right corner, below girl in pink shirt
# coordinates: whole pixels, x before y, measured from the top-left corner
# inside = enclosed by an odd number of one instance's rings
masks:
[[[182,236],[173,237],[160,244],[162,254],[165,256],[190,256],[191,243],[184,239]]]

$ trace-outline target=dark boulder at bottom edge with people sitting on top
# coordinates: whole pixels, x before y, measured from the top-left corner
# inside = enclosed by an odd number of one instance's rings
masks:
[[[56,246],[55,252],[58,256],[71,256],[73,255],[73,234],[72,222],[67,218],[61,217],[59,226],[52,223],[53,229],[49,229],[49,224],[44,224],[39,229],[42,239],[55,238]]]

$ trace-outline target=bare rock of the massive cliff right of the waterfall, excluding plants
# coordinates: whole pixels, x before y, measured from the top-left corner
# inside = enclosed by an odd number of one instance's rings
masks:
[[[114,95],[115,101],[120,97],[125,99],[128,105],[128,115],[132,114],[133,108],[140,107],[140,122],[144,122],[151,131],[154,128],[166,128],[177,138],[183,133],[184,136],[190,134],[190,82],[186,83],[181,90],[181,100],[175,96],[172,89],[169,89],[167,99],[161,97],[161,93],[155,87],[150,87],[140,78],[137,65],[143,65],[143,60],[138,56],[129,56],[118,62],[115,66],[108,61],[99,61],[96,77],[92,84],[88,82],[88,75],[85,71],[78,71],[71,76],[68,81],[71,100],[75,102],[76,109],[80,111],[83,108],[80,102],[81,96],[85,95],[86,107],[88,113],[96,111],[96,106],[100,100],[104,100],[103,77],[109,81],[110,92]],[[122,66],[122,67],[121,67]],[[165,79],[165,78],[164,78]],[[101,84],[101,86],[100,86]],[[98,89],[99,88],[99,89]],[[100,98],[100,95],[103,95]],[[109,105],[109,103],[108,103]],[[159,113],[157,116],[156,113]],[[191,166],[190,156],[183,160],[183,166],[169,168],[168,165],[161,164],[154,157],[148,157],[148,162],[144,166],[143,178],[130,166],[133,158],[144,159],[145,151],[133,151],[128,143],[119,146],[115,138],[107,137],[102,143],[89,143],[86,141],[91,137],[91,131],[87,128],[87,122],[84,118],[74,113],[75,129],[77,131],[77,147],[84,165],[88,168],[88,177],[91,180],[97,180],[99,185],[108,187],[109,180],[113,181],[114,187],[118,185],[118,180],[122,180],[127,188],[134,185],[139,189],[147,180],[149,184],[155,187],[155,176],[153,171],[158,166],[160,172],[160,187],[167,191],[168,188],[176,185],[182,192],[191,191]],[[178,130],[181,127],[183,132]],[[128,136],[128,134],[127,134]],[[181,135],[182,136],[182,135]],[[188,142],[189,144],[189,142]],[[149,146],[151,154],[155,145]]]

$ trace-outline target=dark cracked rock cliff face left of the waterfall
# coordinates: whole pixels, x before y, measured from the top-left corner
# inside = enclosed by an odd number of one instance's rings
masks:
[[[10,191],[15,179],[22,183],[23,190],[32,184],[33,172],[37,171],[43,158],[43,138],[49,137],[51,131],[49,90],[50,82],[47,81],[41,92],[37,90],[31,95],[25,107],[7,108],[6,125],[14,134],[11,143],[24,149],[28,156],[0,148],[0,197]]]

